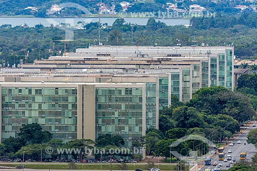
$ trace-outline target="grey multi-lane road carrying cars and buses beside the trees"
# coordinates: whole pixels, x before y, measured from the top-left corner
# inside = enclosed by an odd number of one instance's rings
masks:
[[[228,145],[225,148],[225,158],[229,154],[228,150],[231,149],[232,153],[230,153],[229,155],[232,156],[232,159],[235,158],[236,160],[240,160],[239,156],[244,151],[244,152],[247,153],[247,160],[248,161],[251,160],[251,157],[257,153],[257,150],[255,149],[253,144],[248,144],[246,142],[246,140],[247,140],[246,136],[247,136],[249,130],[254,129],[254,128],[256,128],[256,127],[252,127],[251,126],[242,135],[238,136],[238,138],[234,141],[235,142],[234,146],[229,146]],[[241,144],[237,144],[237,141],[241,141]],[[244,145],[244,143],[246,143],[246,145]],[[226,167],[227,162],[218,161],[218,156],[216,156],[216,157],[214,157],[212,159],[212,164],[213,164],[214,161],[217,161],[218,163],[222,163],[223,164],[221,169],[229,169],[229,167]],[[233,165],[231,164],[230,166],[233,166]],[[205,170],[208,167],[214,168],[215,166],[212,166],[212,165],[211,166],[204,166],[203,168],[201,168],[201,170]]]

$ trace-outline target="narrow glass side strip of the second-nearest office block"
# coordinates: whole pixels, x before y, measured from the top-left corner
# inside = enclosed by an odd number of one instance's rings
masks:
[[[169,106],[169,78],[159,78],[159,109]]]

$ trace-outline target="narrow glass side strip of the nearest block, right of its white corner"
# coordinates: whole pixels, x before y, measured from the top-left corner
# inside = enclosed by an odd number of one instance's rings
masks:
[[[156,83],[146,83],[146,129],[156,128]]]

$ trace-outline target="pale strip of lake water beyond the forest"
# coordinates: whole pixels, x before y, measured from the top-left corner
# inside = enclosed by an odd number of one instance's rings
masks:
[[[117,18],[101,18],[101,23],[107,23],[111,26]],[[133,23],[138,25],[146,25],[149,18],[124,18],[125,22]],[[24,25],[25,23],[29,27],[34,27],[37,24],[42,24],[44,26],[50,26],[50,24],[57,25],[59,23],[69,23],[75,26],[78,22],[98,22],[99,18],[1,18],[0,26],[4,24],[11,24],[12,26]],[[168,26],[175,25],[189,25],[187,19],[156,19],[156,21],[161,21],[166,23]]]

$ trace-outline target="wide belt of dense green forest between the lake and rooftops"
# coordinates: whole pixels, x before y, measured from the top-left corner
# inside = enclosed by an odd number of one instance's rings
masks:
[[[222,18],[223,16],[217,16],[215,20],[223,21]],[[248,19],[249,17],[246,21]],[[193,18],[191,22],[198,22],[197,20],[201,19]],[[247,23],[246,25],[231,25],[223,29],[210,25],[207,27],[209,29],[203,29],[200,25],[196,27],[195,24],[189,28],[167,26],[162,22],[156,22],[153,18],[150,18],[145,26],[132,25],[125,23],[124,19],[120,18],[115,21],[112,27],[102,27],[101,42],[103,45],[131,45],[133,31],[133,45],[175,46],[178,40],[181,46],[201,45],[201,43],[223,46],[233,43],[236,56],[254,56],[257,54],[255,34],[257,29],[247,26]],[[88,47],[89,44],[98,44],[98,23],[80,24],[85,29],[75,29],[75,41],[67,43],[67,52],[74,52],[76,48]],[[65,27],[65,24],[59,27],[44,27],[39,24],[28,28],[11,27],[10,25],[0,26],[2,65],[5,63],[7,66],[9,63],[12,66],[14,62],[18,64],[21,59],[25,61],[26,51],[29,51],[29,63],[33,63],[35,59],[47,59],[48,56],[56,55],[60,50],[63,52],[64,43],[60,40],[65,39],[65,31],[60,27]],[[118,42],[117,37],[119,37]]]

